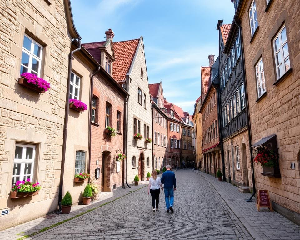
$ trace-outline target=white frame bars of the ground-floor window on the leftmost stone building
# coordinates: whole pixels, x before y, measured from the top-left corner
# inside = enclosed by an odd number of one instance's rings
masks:
[[[16,149],[17,147],[22,147],[22,156],[21,158],[15,158],[16,156]],[[32,149],[32,158],[26,158],[26,148],[33,148]],[[30,178],[31,181],[33,181],[33,173],[34,173],[34,162],[35,162],[35,145],[29,145],[29,144],[16,144],[15,154],[14,154],[14,160],[13,164],[21,164],[20,166],[20,174],[12,173],[12,184],[16,183],[17,181],[26,181],[27,178]],[[31,171],[30,173],[24,173],[25,171],[25,165],[31,164]],[[19,178],[19,180],[15,179]],[[14,181],[15,179],[15,181]]]

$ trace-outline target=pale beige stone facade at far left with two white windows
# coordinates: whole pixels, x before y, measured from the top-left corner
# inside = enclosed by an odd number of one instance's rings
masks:
[[[0,23],[0,209],[9,210],[3,229],[57,209],[68,54],[72,38],[80,36],[71,26],[69,1],[8,1],[0,8],[7,16]],[[51,89],[38,94],[20,86],[20,73],[28,69]],[[42,189],[11,199],[12,184],[26,178]]]

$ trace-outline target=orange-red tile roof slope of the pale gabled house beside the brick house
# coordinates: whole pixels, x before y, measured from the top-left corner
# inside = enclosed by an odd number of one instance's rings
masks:
[[[115,61],[113,62],[113,78],[124,81],[128,73],[140,39],[113,42]]]

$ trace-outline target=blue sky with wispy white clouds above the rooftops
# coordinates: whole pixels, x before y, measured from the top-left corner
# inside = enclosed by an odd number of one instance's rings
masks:
[[[230,0],[71,0],[82,42],[113,41],[143,35],[149,83],[163,83],[169,102],[193,113],[201,94],[201,66],[218,55],[217,22],[232,23]]]

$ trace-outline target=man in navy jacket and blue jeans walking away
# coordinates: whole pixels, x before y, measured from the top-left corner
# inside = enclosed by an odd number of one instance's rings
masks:
[[[166,207],[167,212],[174,212],[173,203],[174,203],[174,191],[176,191],[176,178],[175,174],[171,171],[171,166],[166,166],[167,171],[163,173],[161,182],[163,185],[163,190],[165,193]],[[169,199],[170,197],[170,199]]]

